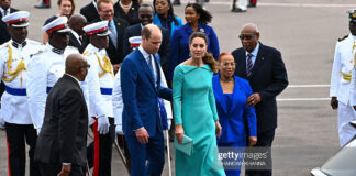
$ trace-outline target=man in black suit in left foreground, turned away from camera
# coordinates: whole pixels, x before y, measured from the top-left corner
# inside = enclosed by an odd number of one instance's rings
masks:
[[[88,109],[80,82],[88,73],[80,54],[66,59],[66,74],[49,91],[35,160],[44,176],[85,176]]]

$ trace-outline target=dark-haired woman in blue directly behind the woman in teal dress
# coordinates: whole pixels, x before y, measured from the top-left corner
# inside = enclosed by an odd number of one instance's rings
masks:
[[[198,3],[188,3],[185,10],[187,23],[176,31],[170,38],[170,61],[168,64],[167,80],[171,80],[175,67],[188,59],[189,54],[189,36],[193,32],[202,32],[208,36],[208,52],[213,54],[216,59],[219,51],[218,36],[214,30],[208,25],[212,15],[201,8]]]

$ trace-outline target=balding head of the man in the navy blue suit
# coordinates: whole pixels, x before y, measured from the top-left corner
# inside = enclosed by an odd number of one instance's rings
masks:
[[[142,32],[142,47],[148,54],[156,54],[162,43],[160,29],[155,24],[147,24],[143,28]]]

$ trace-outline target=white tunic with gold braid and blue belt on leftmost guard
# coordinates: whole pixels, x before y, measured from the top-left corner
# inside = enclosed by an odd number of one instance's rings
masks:
[[[1,97],[1,117],[8,123],[32,124],[38,120],[31,118],[27,108],[26,69],[31,56],[42,48],[42,44],[31,40],[26,40],[24,46],[10,40],[0,47],[0,77],[7,89]]]

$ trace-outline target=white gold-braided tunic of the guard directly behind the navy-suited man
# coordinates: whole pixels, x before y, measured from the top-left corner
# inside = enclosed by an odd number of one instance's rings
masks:
[[[110,59],[105,57],[107,52],[89,44],[84,52],[84,56],[90,64],[86,77],[89,90],[89,114],[97,118],[113,118],[112,88],[114,76]]]

